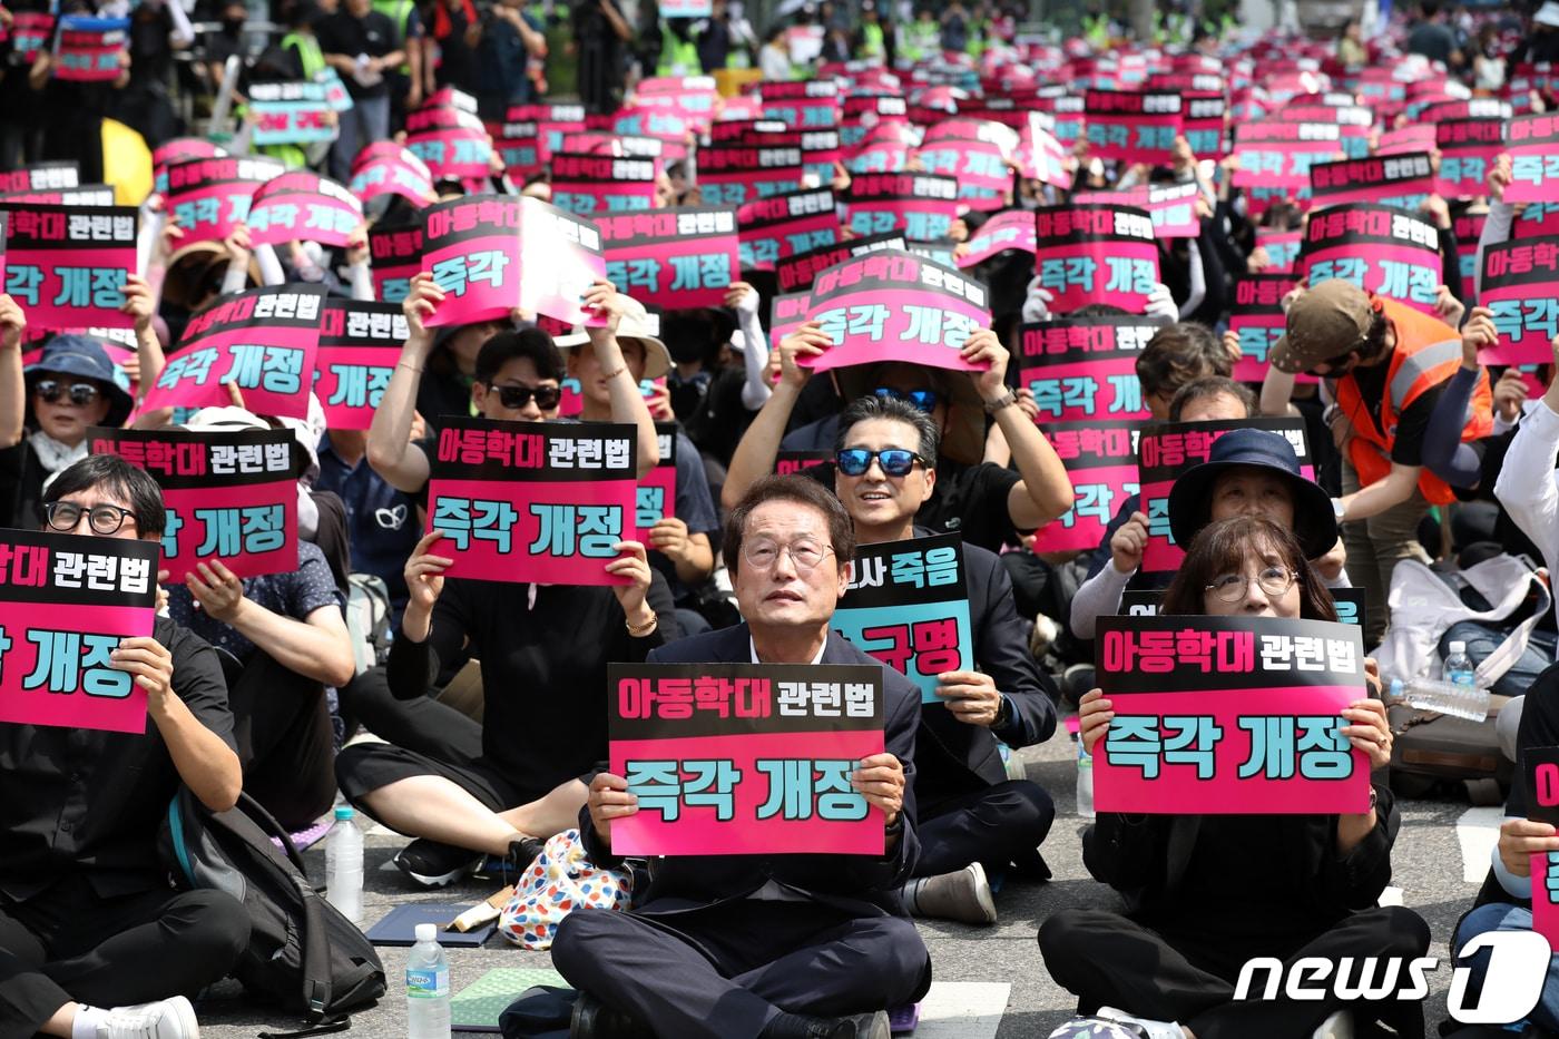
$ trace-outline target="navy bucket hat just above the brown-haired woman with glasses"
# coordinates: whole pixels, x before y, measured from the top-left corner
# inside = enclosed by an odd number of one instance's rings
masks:
[[[1320,559],[1338,543],[1338,518],[1331,498],[1299,468],[1288,437],[1271,429],[1233,429],[1213,441],[1207,462],[1180,474],[1169,490],[1169,532],[1175,544],[1188,546],[1211,521],[1213,485],[1228,470],[1253,466],[1288,480],[1294,495],[1294,537],[1305,559]]]

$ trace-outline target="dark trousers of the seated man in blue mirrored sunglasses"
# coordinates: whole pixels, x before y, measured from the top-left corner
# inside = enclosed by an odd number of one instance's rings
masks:
[[[1055,819],[1051,796],[1029,780],[920,803],[917,877],[951,874],[970,863],[982,863],[987,871],[1006,869],[1012,861],[1029,864]]]

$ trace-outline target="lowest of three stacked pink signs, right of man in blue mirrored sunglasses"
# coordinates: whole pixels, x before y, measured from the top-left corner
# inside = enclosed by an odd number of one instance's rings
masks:
[[[1066,515],[1035,532],[1035,552],[1091,552],[1099,548],[1121,502],[1137,493],[1137,437],[1141,429],[1141,420],[1040,426],[1066,463],[1074,499]]]

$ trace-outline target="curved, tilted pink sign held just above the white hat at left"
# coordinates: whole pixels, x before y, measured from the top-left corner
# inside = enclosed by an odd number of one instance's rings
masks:
[[[143,407],[221,407],[237,385],[256,415],[307,418],[324,285],[221,296],[184,326]]]

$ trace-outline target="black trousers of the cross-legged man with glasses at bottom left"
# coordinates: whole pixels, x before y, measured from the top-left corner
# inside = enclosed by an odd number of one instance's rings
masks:
[[[221,891],[101,899],[76,875],[27,902],[0,902],[0,1039],[31,1039],[69,1002],[193,997],[248,942],[248,913]]]

